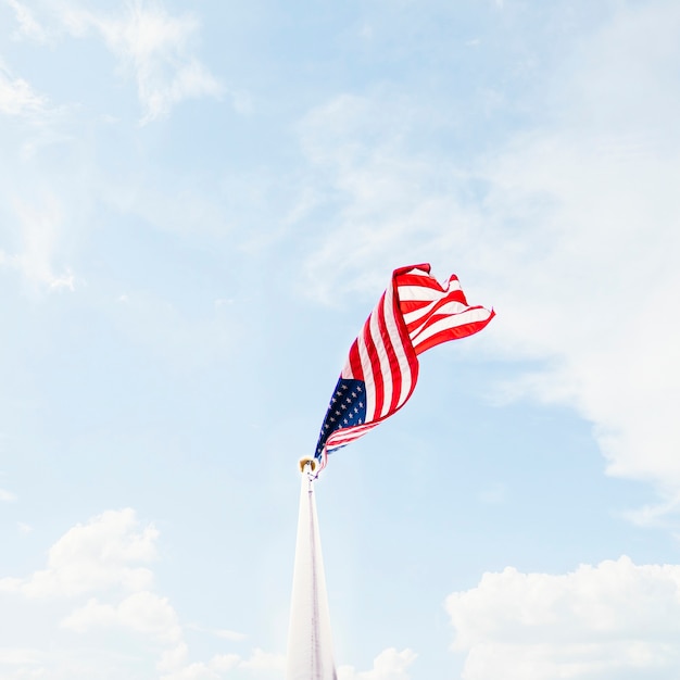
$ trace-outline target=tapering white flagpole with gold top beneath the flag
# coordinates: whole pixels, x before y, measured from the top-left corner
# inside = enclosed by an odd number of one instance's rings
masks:
[[[316,461],[300,461],[302,486],[288,630],[287,680],[337,680],[322,542],[314,499]]]

